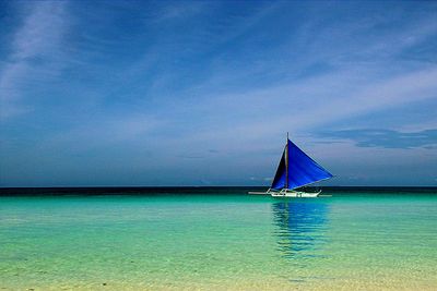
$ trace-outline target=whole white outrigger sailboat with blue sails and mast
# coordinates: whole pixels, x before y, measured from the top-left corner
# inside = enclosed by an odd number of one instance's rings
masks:
[[[312,198],[318,192],[305,192],[299,189],[316,182],[331,179],[333,175],[312,160],[288,138],[277,166],[272,185],[267,192],[249,192],[249,194],[270,194],[272,197]]]

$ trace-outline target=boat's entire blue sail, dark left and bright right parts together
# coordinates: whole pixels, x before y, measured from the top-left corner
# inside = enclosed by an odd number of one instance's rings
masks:
[[[288,151],[286,151],[287,148]],[[332,178],[330,172],[288,140],[271,187],[274,190],[296,189],[329,178]]]

